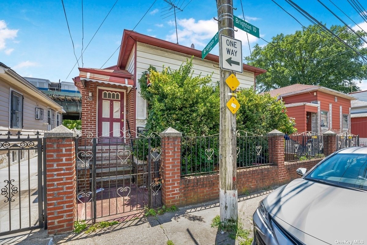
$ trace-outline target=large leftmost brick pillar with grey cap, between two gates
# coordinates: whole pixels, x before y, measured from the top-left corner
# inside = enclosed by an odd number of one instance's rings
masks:
[[[60,125],[45,133],[48,234],[73,230],[76,219],[76,133]]]

